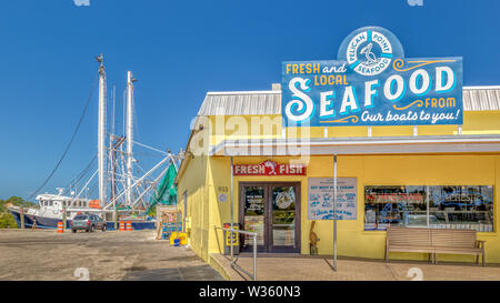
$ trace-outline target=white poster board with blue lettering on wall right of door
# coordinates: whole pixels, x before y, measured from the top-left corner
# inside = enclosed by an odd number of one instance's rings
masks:
[[[308,219],[333,220],[333,178],[308,179]],[[337,220],[357,220],[358,181],[337,178]]]

